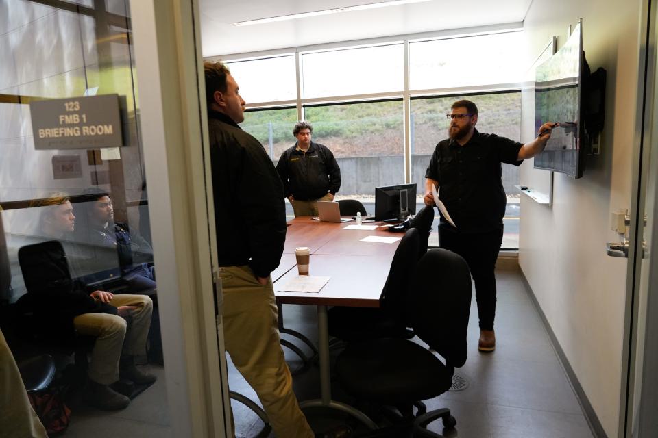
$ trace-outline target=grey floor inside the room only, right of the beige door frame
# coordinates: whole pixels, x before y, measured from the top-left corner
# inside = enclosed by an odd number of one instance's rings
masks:
[[[427,400],[428,409],[448,407],[456,417],[457,426],[447,432],[446,437],[593,437],[544,325],[526,293],[520,272],[498,270],[497,279],[496,351],[483,354],[477,350],[479,329],[474,299],[468,331],[469,357],[463,368],[457,370],[469,386],[463,391]],[[285,326],[314,339],[315,324],[315,308],[284,306]],[[299,368],[297,357],[284,350],[291,369]],[[232,368],[230,385],[256,399]],[[295,377],[295,391],[300,400],[317,397],[317,388],[317,368]],[[335,385],[333,396],[341,398]],[[239,438],[259,436],[263,423],[256,415],[235,402],[232,406],[236,435]],[[313,424],[319,419],[311,416],[310,420]],[[442,433],[441,421],[430,424],[430,430]],[[272,434],[260,436],[273,437]]]

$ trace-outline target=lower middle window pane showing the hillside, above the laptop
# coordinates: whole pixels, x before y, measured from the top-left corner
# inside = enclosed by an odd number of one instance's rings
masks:
[[[374,196],[377,185],[404,181],[402,100],[307,107],[313,140],[341,166],[341,196]]]

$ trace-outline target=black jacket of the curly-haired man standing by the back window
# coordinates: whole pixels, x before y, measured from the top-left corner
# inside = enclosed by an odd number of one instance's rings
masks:
[[[276,170],[287,198],[315,201],[341,188],[341,168],[328,147],[319,143],[311,142],[306,153],[295,143],[281,154]]]

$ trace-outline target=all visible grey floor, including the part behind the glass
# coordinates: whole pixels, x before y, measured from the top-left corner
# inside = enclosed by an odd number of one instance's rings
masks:
[[[553,350],[544,325],[526,294],[520,272],[498,270],[498,307],[496,315],[497,348],[491,354],[477,351],[478,320],[472,300],[468,342],[469,357],[457,370],[469,386],[426,400],[428,409],[448,407],[457,426],[446,437],[461,438],[581,438],[592,437],[583,411],[566,374]],[[284,324],[316,339],[316,313],[313,307],[284,306]],[[293,339],[294,342],[294,339]],[[299,342],[296,342],[299,345]],[[300,360],[284,348],[293,372]],[[169,437],[169,412],[164,389],[164,370],[155,368],[160,379],[117,413],[100,413],[79,407],[71,417],[66,437]],[[252,389],[229,363],[230,387],[256,400]],[[295,376],[295,392],[300,400],[319,396],[317,368]],[[339,388],[333,388],[338,400],[350,401]],[[273,437],[263,431],[263,423],[252,411],[232,402],[236,436]],[[340,417],[309,415],[318,430],[327,428]],[[441,421],[430,429],[442,432]],[[289,438],[289,437],[287,437]],[[292,437],[291,437],[292,438]],[[402,437],[395,437],[402,438]]]

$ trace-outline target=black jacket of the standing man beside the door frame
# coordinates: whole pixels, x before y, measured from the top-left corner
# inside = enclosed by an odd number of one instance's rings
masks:
[[[263,145],[228,116],[208,112],[219,266],[267,277],[286,240],[283,185]]]

